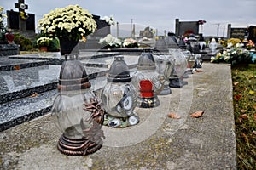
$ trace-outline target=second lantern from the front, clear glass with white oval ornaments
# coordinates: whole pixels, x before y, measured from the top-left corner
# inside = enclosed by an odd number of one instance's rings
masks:
[[[133,111],[137,106],[137,93],[131,84],[130,71],[123,56],[114,58],[102,90],[102,102],[106,109],[104,125],[128,127],[136,125],[139,117]]]

